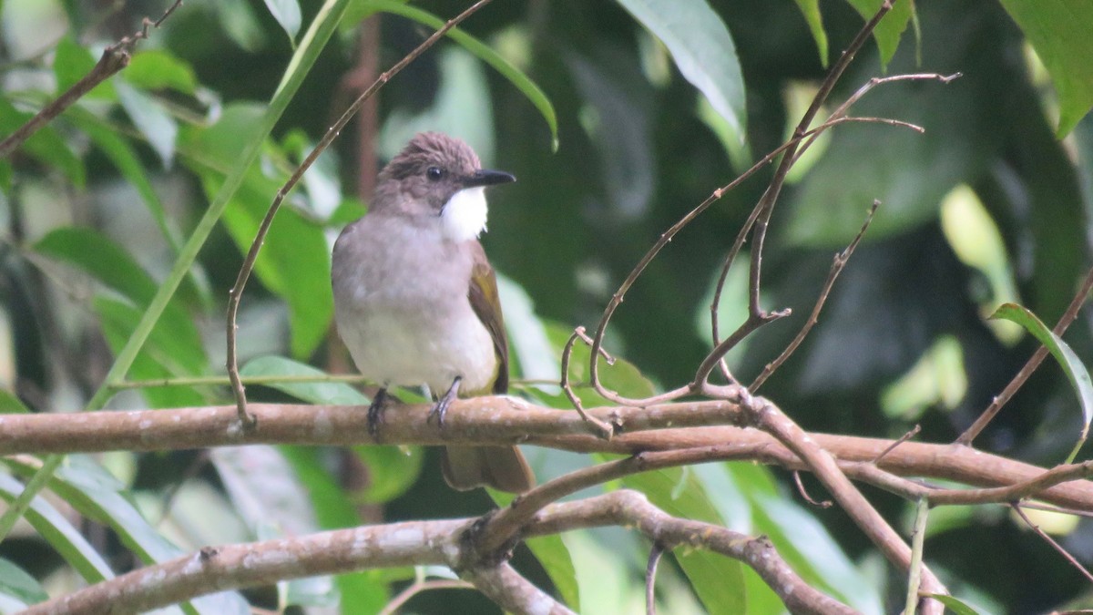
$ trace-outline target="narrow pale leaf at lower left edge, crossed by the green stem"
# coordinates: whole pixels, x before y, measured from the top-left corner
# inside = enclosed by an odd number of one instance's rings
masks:
[[[23,485],[7,474],[0,474],[0,499],[10,502],[23,490]],[[114,578],[114,571],[83,534],[46,499],[35,497],[26,511],[26,521],[87,583]],[[0,573],[0,579],[4,575]]]

